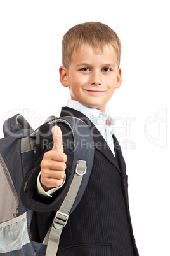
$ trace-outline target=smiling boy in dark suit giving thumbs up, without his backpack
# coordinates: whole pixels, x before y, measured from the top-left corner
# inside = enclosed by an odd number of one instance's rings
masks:
[[[107,25],[87,22],[69,29],[62,53],[60,82],[69,87],[71,101],[60,117],[71,115],[89,125],[95,157],[86,191],[63,228],[57,255],[136,256],[126,166],[112,119],[105,115],[106,104],[122,81],[120,40]],[[52,132],[51,125],[42,125],[35,167],[26,179],[27,190],[21,191],[23,204],[37,211],[41,241],[69,189],[72,142],[64,124]]]

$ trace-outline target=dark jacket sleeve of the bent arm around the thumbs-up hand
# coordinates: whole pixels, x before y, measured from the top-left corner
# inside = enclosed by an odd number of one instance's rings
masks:
[[[66,181],[62,188],[57,190],[53,194],[52,198],[42,197],[37,193],[37,176],[41,171],[41,160],[43,155],[48,150],[53,148],[53,138],[51,134],[51,129],[54,124],[42,125],[39,129],[36,139],[36,155],[34,159],[34,169],[32,169],[29,174],[24,178],[22,187],[20,190],[20,197],[23,205],[32,211],[39,212],[49,212],[57,211],[65,198],[69,186],[70,180],[70,167],[72,166],[72,159],[74,157],[74,140],[72,137],[72,132],[69,127],[65,124],[59,124],[58,126],[62,130],[63,134],[63,148],[67,155],[67,168],[65,169]]]

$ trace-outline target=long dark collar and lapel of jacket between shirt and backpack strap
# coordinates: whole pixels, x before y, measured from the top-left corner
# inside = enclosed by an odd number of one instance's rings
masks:
[[[83,115],[80,111],[74,110],[73,108],[68,108],[68,107],[63,107],[62,111],[60,113],[60,117],[64,116],[72,116],[72,117],[77,117],[83,120],[88,126],[89,129],[91,130],[91,133],[93,134],[93,139],[95,143],[95,148],[96,150],[100,151],[105,158],[115,166],[117,171],[121,173],[119,165],[117,163],[117,160],[115,159],[112,151],[110,150],[109,146],[107,145],[107,142],[101,135],[101,133],[98,131],[98,129],[95,127],[95,125],[89,120],[88,117]],[[116,141],[117,142],[117,141]],[[115,141],[114,141],[115,144]],[[120,158],[120,157],[119,157]],[[118,158],[118,160],[119,160]]]

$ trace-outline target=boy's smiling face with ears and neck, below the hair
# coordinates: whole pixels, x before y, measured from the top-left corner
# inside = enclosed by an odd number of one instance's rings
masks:
[[[117,54],[112,45],[94,52],[82,45],[72,53],[69,69],[60,67],[60,81],[70,88],[71,99],[105,112],[106,104],[121,85],[121,68],[117,68]]]

